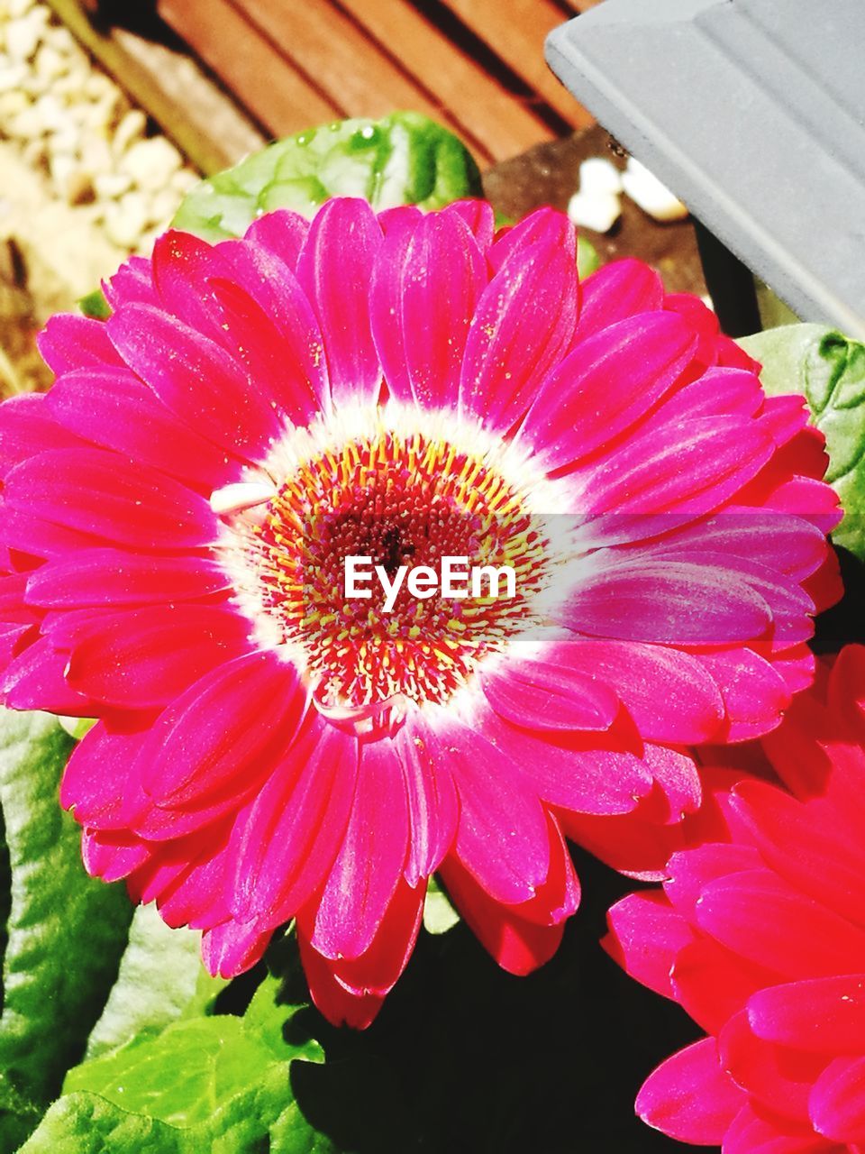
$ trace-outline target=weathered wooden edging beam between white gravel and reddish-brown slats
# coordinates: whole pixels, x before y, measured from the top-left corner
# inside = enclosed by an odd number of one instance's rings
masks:
[[[155,45],[155,51],[148,53],[143,43],[136,43],[130,33],[95,28],[80,0],[48,0],[48,5],[131,100],[150,113],[205,175],[236,163],[243,152],[256,147],[253,125],[243,120],[227,97],[217,93],[212,82],[191,62],[186,63],[182,76],[187,88],[185,98],[190,105],[187,108],[179,100],[180,93],[171,83],[166,84],[166,77],[168,74],[174,77],[180,62],[178,53]],[[155,55],[159,59],[155,60]],[[202,85],[210,90],[209,100],[196,103]]]

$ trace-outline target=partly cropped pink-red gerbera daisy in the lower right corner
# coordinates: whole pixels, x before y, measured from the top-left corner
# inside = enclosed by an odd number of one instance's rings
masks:
[[[610,911],[614,956],[709,1035],[638,1110],[723,1154],[865,1149],[865,649],[821,680],[749,751],[790,792],[728,784],[715,838]]]

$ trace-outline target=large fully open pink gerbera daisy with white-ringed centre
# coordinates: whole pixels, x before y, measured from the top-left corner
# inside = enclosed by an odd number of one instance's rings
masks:
[[[203,929],[212,972],[294,917],[318,1005],[367,1022],[439,870],[525,973],[577,907],[563,832],[677,822],[680,747],[810,681],[819,435],[650,269],[580,290],[564,216],[334,200],[168,233],[106,292],[0,412],[2,689],[101,719],[61,795],[88,869]],[[516,592],[385,612],[347,556]]]

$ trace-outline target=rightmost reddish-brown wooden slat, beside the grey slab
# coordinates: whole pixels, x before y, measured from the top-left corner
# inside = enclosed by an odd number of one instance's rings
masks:
[[[445,0],[445,3],[570,125],[585,128],[592,123],[592,114],[563,88],[543,59],[547,33],[565,20],[552,0],[509,0],[507,5],[501,0]]]

